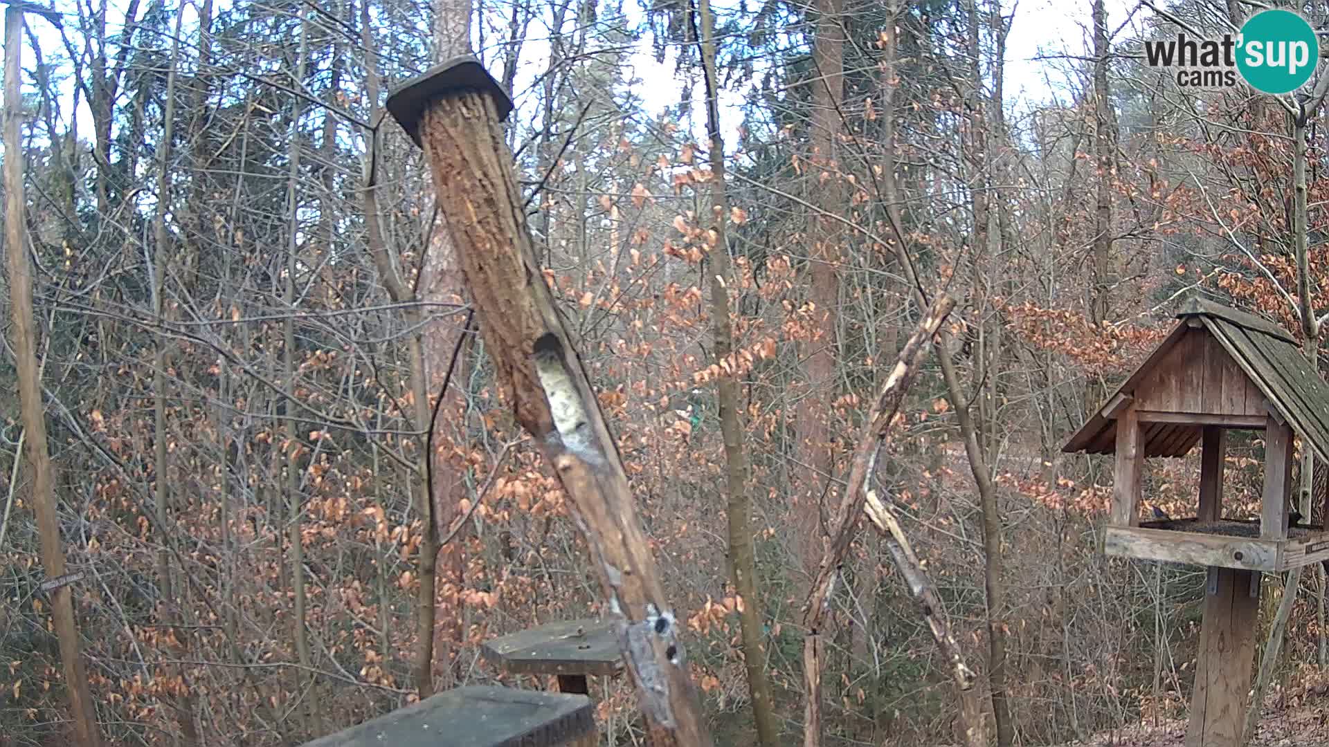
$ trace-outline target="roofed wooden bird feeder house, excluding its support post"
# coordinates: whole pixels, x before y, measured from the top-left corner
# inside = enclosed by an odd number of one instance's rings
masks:
[[[1063,447],[1116,457],[1106,553],[1256,572],[1329,558],[1321,526],[1288,525],[1293,433],[1329,463],[1329,384],[1272,322],[1199,298],[1177,318],[1172,334]],[[1259,521],[1223,517],[1228,429],[1264,431]],[[1184,456],[1197,443],[1197,516],[1140,522],[1143,460]]]

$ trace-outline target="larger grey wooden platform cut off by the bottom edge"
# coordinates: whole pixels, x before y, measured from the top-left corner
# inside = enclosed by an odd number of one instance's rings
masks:
[[[304,747],[594,747],[599,736],[583,695],[459,687]]]

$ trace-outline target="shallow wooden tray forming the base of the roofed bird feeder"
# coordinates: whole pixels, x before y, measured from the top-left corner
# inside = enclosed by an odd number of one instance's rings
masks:
[[[1259,521],[1174,518],[1108,526],[1110,556],[1277,573],[1329,560],[1329,532],[1290,526],[1286,540],[1260,538]]]

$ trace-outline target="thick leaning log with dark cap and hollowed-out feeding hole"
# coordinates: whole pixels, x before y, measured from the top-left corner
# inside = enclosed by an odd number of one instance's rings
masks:
[[[473,57],[395,89],[387,110],[424,149],[497,383],[570,498],[654,744],[710,746],[627,476],[536,262],[500,122],[506,92]]]

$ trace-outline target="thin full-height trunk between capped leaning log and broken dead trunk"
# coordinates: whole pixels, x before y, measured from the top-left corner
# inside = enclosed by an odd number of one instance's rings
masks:
[[[706,124],[711,136],[711,226],[715,245],[710,250],[711,330],[715,335],[715,362],[720,376],[715,380],[720,411],[720,433],[724,439],[727,516],[730,522],[730,570],[734,587],[742,599],[739,625],[743,634],[743,663],[748,691],[752,695],[752,719],[758,743],[775,747],[780,730],[771,704],[771,685],[766,677],[766,646],[762,643],[762,598],[758,595],[756,553],[752,544],[752,501],[747,493],[747,455],[743,452],[743,424],[739,423],[739,393],[732,374],[724,366],[734,351],[734,328],[730,322],[730,246],[726,222],[730,219],[730,197],[724,182],[724,140],[720,136],[719,77],[715,72],[715,19],[710,0],[700,0],[702,68],[706,76]],[[706,219],[704,206],[700,219]]]

